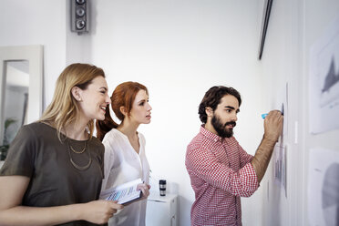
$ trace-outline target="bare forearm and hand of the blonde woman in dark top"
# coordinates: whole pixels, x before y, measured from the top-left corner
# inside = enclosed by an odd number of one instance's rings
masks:
[[[25,176],[0,177],[1,225],[56,225],[82,220],[103,224],[123,208],[117,202],[109,200],[44,208],[22,206],[29,181]]]

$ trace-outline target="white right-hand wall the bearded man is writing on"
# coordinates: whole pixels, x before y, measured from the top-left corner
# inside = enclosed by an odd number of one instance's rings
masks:
[[[263,0],[262,0],[263,1]],[[263,57],[264,108],[272,105],[288,83],[287,198],[274,185],[272,164],[262,181],[262,225],[311,225],[307,210],[309,150],[338,150],[339,130],[309,133],[309,54],[311,46],[339,13],[338,1],[273,1]],[[296,128],[295,125],[298,125]]]

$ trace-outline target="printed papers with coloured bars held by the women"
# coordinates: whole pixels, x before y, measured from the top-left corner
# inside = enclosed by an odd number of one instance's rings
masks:
[[[115,188],[101,191],[101,200],[118,200],[119,204],[126,204],[132,200],[141,198],[141,190],[137,190],[139,184],[143,183],[141,179],[132,180],[120,184]]]

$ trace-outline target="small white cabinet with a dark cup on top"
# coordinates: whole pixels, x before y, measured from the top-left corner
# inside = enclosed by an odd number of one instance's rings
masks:
[[[151,192],[147,200],[146,226],[178,226],[178,195]]]

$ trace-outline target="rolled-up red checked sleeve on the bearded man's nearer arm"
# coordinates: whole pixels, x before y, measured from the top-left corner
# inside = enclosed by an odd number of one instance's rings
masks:
[[[257,175],[251,163],[239,171],[219,162],[208,149],[191,149],[186,157],[190,173],[232,195],[250,197],[258,189]]]

